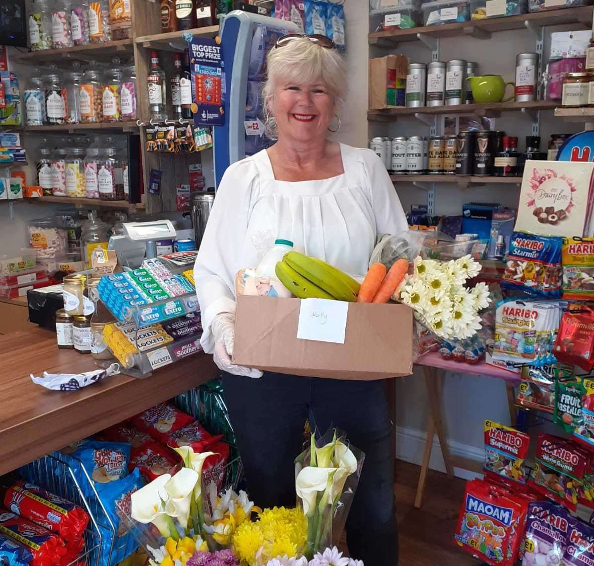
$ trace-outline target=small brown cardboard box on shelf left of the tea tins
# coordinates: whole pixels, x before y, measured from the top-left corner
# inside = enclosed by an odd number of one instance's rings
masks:
[[[369,109],[404,106],[407,72],[408,59],[404,55],[369,59]]]

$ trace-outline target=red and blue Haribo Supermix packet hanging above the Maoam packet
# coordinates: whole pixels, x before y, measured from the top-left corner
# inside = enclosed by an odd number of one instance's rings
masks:
[[[514,482],[526,483],[527,474],[523,464],[529,446],[529,435],[485,420],[485,470]]]

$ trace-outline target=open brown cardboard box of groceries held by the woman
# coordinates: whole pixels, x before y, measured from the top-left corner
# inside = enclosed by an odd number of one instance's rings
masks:
[[[237,297],[233,363],[270,372],[334,379],[412,373],[412,309],[349,303],[345,343],[297,338],[301,300]]]

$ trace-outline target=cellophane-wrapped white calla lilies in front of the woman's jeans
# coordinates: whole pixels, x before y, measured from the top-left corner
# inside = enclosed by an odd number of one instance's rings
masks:
[[[337,544],[359,483],[365,455],[331,429],[295,460],[295,490],[307,520],[305,556]]]

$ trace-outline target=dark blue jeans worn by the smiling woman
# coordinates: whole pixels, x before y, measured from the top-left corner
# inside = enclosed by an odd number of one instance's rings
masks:
[[[295,458],[311,411],[324,434],[336,426],[365,452],[346,524],[349,553],[365,566],[396,566],[394,463],[384,381],[339,381],[266,372],[260,379],[223,374],[225,398],[256,505],[295,507]]]

